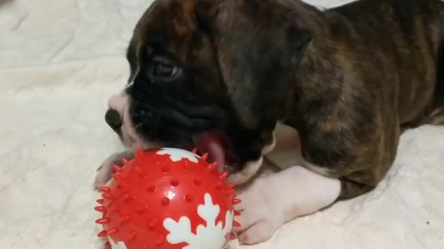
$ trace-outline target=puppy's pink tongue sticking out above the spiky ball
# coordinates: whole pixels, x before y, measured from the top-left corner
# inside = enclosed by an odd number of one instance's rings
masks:
[[[210,162],[217,162],[219,172],[223,172],[225,166],[225,151],[221,138],[216,132],[200,133],[193,137],[194,145],[201,154],[208,153]]]

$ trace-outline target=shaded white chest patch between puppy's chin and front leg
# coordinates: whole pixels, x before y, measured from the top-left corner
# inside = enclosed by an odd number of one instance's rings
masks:
[[[285,124],[278,124],[274,131],[275,147],[266,158],[281,169],[287,169],[294,165],[305,166],[300,150],[299,133],[296,129]]]

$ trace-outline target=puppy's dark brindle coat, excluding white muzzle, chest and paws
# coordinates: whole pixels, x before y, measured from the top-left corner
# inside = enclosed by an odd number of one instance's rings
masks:
[[[181,127],[165,120],[173,113],[144,110],[146,121],[133,107],[135,123],[171,145],[221,129],[245,163],[280,121],[300,133],[305,160],[341,179],[341,199],[363,194],[393,164],[402,131],[444,122],[443,11],[438,0],[361,0],[325,11],[297,0],[157,0],[128,49],[134,88],[207,114],[190,114]],[[148,45],[185,76],[148,86]]]

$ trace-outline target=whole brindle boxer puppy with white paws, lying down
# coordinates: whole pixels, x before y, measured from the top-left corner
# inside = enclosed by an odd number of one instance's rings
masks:
[[[198,147],[249,183],[241,243],[373,190],[402,131],[443,124],[444,6],[361,0],[157,0],[105,120],[129,149]],[[131,154],[131,151],[123,152]],[[105,160],[96,178],[110,178]],[[280,167],[254,178],[263,158]]]

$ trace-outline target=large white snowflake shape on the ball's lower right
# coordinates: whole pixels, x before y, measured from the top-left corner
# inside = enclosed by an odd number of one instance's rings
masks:
[[[169,243],[188,243],[188,246],[182,249],[223,248],[226,242],[225,235],[232,230],[234,213],[231,210],[225,213],[225,228],[222,228],[221,221],[216,224],[221,208],[213,204],[212,196],[208,193],[205,194],[204,200],[205,204],[198,205],[197,212],[206,221],[207,226],[198,225],[196,234],[191,232],[191,221],[187,216],[180,217],[178,222],[171,218],[164,219],[164,228],[169,231],[167,236]]]

